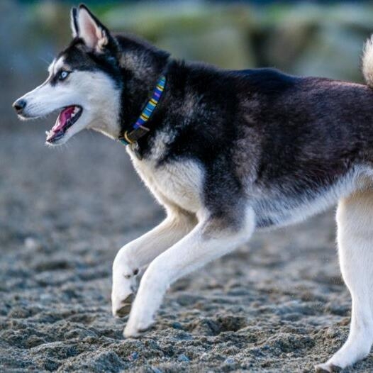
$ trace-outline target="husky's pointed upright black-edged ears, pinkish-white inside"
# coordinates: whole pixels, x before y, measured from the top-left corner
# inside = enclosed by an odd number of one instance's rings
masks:
[[[74,38],[81,38],[88,48],[102,51],[108,45],[110,35],[108,29],[81,4],[71,10],[71,28]]]

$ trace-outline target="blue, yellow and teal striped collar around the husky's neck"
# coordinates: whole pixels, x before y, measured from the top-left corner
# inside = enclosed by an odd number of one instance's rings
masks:
[[[138,147],[138,139],[142,138],[150,131],[150,128],[145,127],[145,124],[147,121],[149,121],[153,111],[155,111],[155,108],[157,107],[157,104],[160,102],[162,93],[165,90],[165,85],[166,77],[165,75],[162,75],[157,81],[157,85],[152,92],[152,97],[149,101],[147,101],[145,108],[143,108],[138,120],[133,125],[133,130],[126,130],[125,133],[123,133],[123,136],[118,138],[121,143],[124,145],[133,145],[133,147]]]

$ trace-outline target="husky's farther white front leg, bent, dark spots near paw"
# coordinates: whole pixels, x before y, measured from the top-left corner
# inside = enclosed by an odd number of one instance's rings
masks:
[[[141,267],[168,249],[196,226],[196,217],[184,211],[169,211],[167,218],[140,238],[124,245],[113,262],[111,305],[114,316],[126,316],[134,298]]]

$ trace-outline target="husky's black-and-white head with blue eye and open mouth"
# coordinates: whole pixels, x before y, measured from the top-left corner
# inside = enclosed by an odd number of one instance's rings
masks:
[[[60,111],[47,143],[61,145],[84,128],[113,138],[120,131],[121,77],[118,45],[108,29],[81,5],[71,12],[73,40],[50,65],[48,79],[13,104],[19,118]]]

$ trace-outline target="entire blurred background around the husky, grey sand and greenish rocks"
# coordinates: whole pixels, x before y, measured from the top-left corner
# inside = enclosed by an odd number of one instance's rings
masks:
[[[373,31],[373,1],[85,3],[111,30],[174,57],[354,82],[362,82],[360,56]],[[44,132],[55,118],[21,123],[11,108],[69,43],[77,4],[0,1],[1,371],[140,372],[146,363],[144,372],[157,373],[182,372],[182,364],[311,372],[345,339],[350,315],[332,212],[255,235],[250,251],[178,282],[155,339],[123,345],[123,321],[110,315],[111,263],[162,209],[123,145],[87,132],[49,149]],[[372,360],[362,364],[372,372]]]

